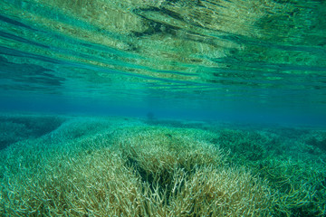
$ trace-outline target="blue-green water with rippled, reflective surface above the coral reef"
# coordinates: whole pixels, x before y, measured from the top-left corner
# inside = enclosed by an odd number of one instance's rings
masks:
[[[0,8],[3,109],[326,119],[325,1],[1,0]]]

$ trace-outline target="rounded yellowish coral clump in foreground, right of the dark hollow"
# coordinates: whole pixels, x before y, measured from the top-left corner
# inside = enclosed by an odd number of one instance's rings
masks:
[[[172,190],[174,216],[269,216],[266,184],[243,169],[200,167],[182,178]]]

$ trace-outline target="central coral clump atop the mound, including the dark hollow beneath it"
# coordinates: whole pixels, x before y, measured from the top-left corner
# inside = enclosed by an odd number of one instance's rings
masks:
[[[198,166],[224,164],[222,151],[194,139],[195,132],[167,127],[127,128],[120,131],[115,146],[143,181],[151,187],[159,184],[159,189],[169,194],[177,169],[190,174]]]

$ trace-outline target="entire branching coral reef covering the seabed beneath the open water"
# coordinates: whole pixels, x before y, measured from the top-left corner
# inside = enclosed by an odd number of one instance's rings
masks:
[[[21,128],[17,123],[35,129],[57,120],[0,151],[2,216],[326,214],[324,130],[189,127],[140,118],[1,119],[9,131]]]

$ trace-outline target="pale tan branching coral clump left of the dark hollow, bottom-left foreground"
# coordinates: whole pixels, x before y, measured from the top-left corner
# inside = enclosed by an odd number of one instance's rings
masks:
[[[110,150],[53,160],[39,173],[27,174],[27,178],[20,174],[6,181],[2,212],[18,216],[137,216],[147,195],[139,177]]]

